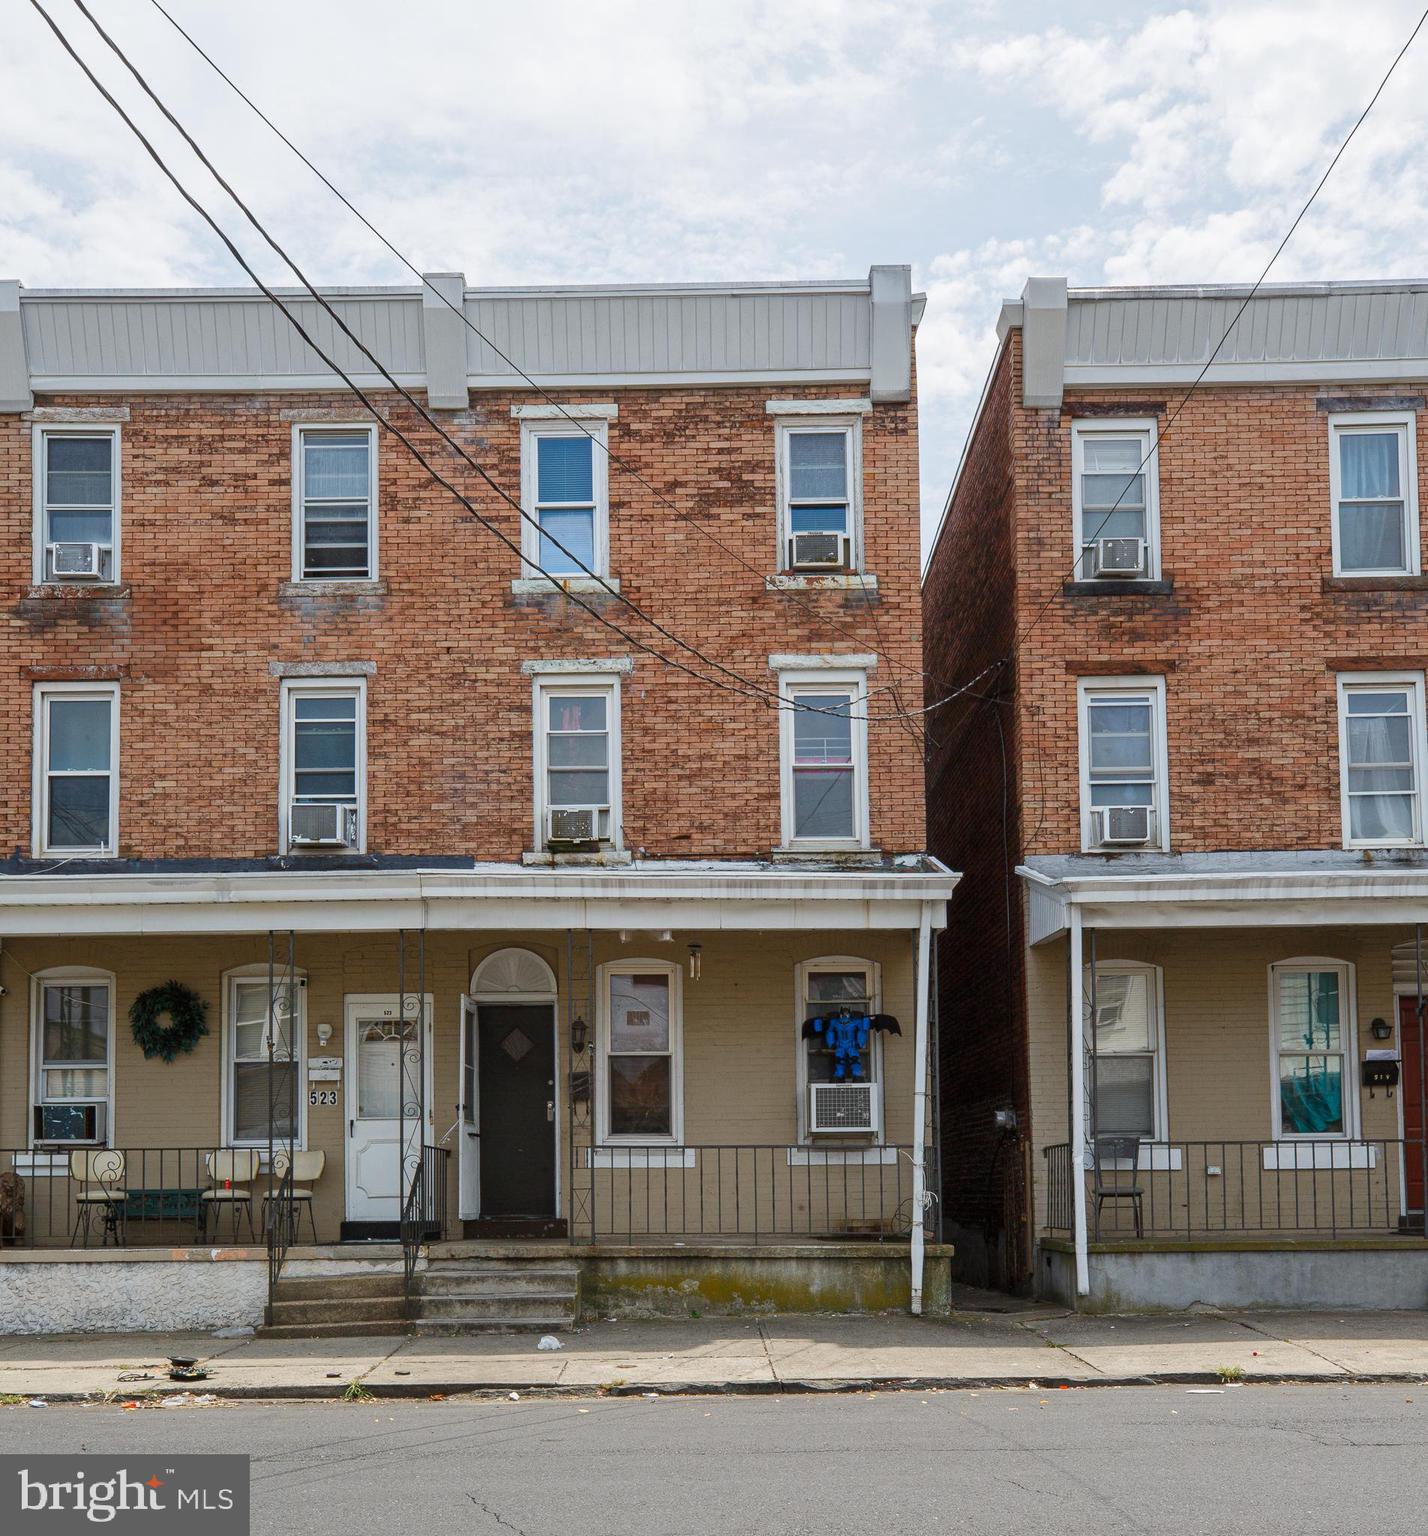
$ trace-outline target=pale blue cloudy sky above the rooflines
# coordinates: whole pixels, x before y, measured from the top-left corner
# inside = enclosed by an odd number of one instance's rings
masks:
[[[180,175],[240,220],[89,29]],[[408,273],[152,0],[88,0],[322,283]],[[1029,275],[1259,276],[1419,0],[164,0],[422,270],[471,284],[852,278],[911,263],[924,539]],[[1270,281],[1428,276],[1428,28]],[[190,175],[192,172],[192,175]],[[240,240],[266,278],[287,278]],[[29,0],[0,49],[0,276],[246,283]]]

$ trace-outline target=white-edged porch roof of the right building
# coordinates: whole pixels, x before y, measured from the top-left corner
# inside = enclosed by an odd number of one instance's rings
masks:
[[[1428,849],[1044,854],[1018,865],[1033,945],[1089,928],[1287,928],[1428,920]]]

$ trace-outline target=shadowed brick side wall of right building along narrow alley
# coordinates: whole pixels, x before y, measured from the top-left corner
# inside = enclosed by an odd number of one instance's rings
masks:
[[[1013,333],[923,584],[929,699],[1012,650],[1010,404],[1020,392]],[[992,1284],[1026,1278],[1021,1144],[993,1126],[1001,1104],[1012,1104],[1023,1126],[1029,1114],[1024,940],[1013,874],[1021,848],[1015,676],[1013,667],[997,667],[927,722],[929,842],[963,871],[940,946],[943,1203],[960,1273]]]

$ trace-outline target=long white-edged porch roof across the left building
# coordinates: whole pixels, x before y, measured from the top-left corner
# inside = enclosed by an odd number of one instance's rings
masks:
[[[912,929],[946,926],[960,879],[929,854],[634,860],[527,866],[476,860],[160,865],[111,860],[0,874],[0,934],[221,934],[293,929]],[[296,866],[295,866],[296,865]],[[12,866],[14,868],[14,866]]]

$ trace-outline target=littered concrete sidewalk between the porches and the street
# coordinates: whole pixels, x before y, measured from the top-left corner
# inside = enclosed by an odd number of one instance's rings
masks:
[[[378,1396],[837,1392],[877,1387],[1126,1385],[1221,1381],[1425,1381],[1428,1313],[1076,1316],[1023,1310],[594,1322],[560,1335],[217,1339],[207,1333],[0,1339],[0,1395],[147,1398],[183,1390],[169,1355],[210,1370],[198,1393]],[[123,1379],[123,1378],[131,1379]],[[135,1379],[137,1378],[137,1379]]]

